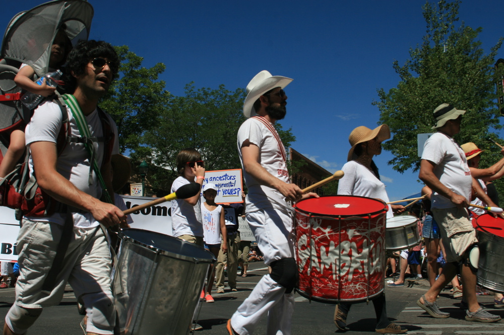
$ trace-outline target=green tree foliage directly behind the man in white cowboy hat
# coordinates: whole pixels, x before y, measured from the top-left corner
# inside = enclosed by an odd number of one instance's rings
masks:
[[[184,148],[196,148],[205,160],[207,171],[240,169],[236,136],[246,120],[242,113],[245,91],[196,89],[191,82],[185,95],[171,97],[155,119],[155,127],[145,133],[142,143],[152,150],[154,171],[150,182],[155,190],[169,191],[177,177],[176,156]],[[286,146],[295,137],[290,129],[276,128]],[[142,152],[145,154],[145,152]],[[142,154],[133,153],[140,158]]]

